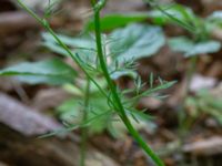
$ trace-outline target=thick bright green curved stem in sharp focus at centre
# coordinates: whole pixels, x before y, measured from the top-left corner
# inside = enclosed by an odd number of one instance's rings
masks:
[[[95,1],[92,0],[92,3],[95,6]],[[127,116],[127,113],[124,111],[124,107],[121,103],[120,96],[118,94],[117,86],[114,82],[111,80],[108,65],[103,55],[102,51],[102,42],[101,42],[101,29],[100,29],[100,10],[94,9],[94,25],[95,25],[95,41],[97,41],[97,49],[98,49],[98,56],[100,61],[101,69],[103,71],[104,77],[108,82],[108,85],[111,90],[114,107],[117,108],[119,116],[123,121],[124,125],[127,126],[130,134],[133,136],[133,138],[138,142],[138,144],[143,148],[143,151],[154,160],[154,163],[158,166],[163,166],[163,162],[155,155],[155,153],[149,147],[149,145],[143,141],[143,138],[140,136],[138,131],[133,127],[130,120]]]

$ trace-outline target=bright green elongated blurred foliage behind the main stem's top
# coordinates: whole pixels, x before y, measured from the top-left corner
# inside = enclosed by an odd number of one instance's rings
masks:
[[[154,8],[155,10],[150,12],[109,13],[101,18],[101,30],[110,31],[132,22],[141,22],[150,19],[157,24],[176,23],[189,31],[193,31],[194,25],[200,22],[200,18],[191,9],[176,3],[160,6],[155,3]],[[85,24],[85,30],[94,30],[93,20],[90,20]]]

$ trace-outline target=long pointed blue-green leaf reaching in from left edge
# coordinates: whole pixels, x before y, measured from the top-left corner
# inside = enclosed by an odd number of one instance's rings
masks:
[[[24,62],[0,70],[2,76],[17,76],[19,81],[38,84],[63,84],[72,82],[77,72],[59,59]]]

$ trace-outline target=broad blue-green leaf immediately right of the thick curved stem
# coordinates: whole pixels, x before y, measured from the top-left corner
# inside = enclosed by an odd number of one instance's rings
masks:
[[[164,45],[162,29],[147,24],[130,24],[110,34],[114,39],[110,43],[110,54],[120,63],[148,58]]]

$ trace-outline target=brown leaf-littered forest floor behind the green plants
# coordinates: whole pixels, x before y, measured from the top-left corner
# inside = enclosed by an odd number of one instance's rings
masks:
[[[182,1],[200,17],[222,10],[218,0]],[[37,0],[38,3],[38,0]],[[31,4],[33,6],[33,4]],[[41,8],[37,8],[41,13]],[[50,20],[58,32],[78,34],[89,17],[88,0],[69,0],[61,3],[61,12]],[[149,7],[142,0],[110,0],[104,13],[145,11]],[[41,46],[43,29],[26,12],[10,1],[0,0],[0,68],[22,61],[38,61],[54,56]],[[167,25],[168,37],[186,35],[180,28]],[[222,41],[222,32],[213,38]],[[222,165],[222,106],[218,110],[202,103],[220,100],[222,103],[222,50],[200,56],[191,80],[190,96],[208,87],[210,95],[198,98],[194,105],[184,104],[186,70],[190,61],[168,45],[152,58],[139,61],[139,73],[143,79],[153,73],[164,80],[178,83],[164,91],[170,96],[163,101],[145,97],[139,107],[148,108],[155,117],[155,127],[140,128],[142,136],[158,152],[168,166],[221,166]],[[69,59],[65,59],[70,63]],[[129,80],[118,82],[121,87],[130,85]],[[70,94],[62,87],[27,85],[9,77],[0,77],[0,166],[78,166],[79,131],[68,135],[37,139],[48,131],[60,128],[61,122],[54,110],[68,100]],[[198,96],[200,97],[200,96]],[[209,100],[210,97],[210,100]],[[210,103],[211,104],[211,103]],[[180,126],[183,113],[194,117],[188,127]],[[213,113],[212,113],[213,112]],[[193,115],[194,114],[194,115]],[[221,120],[221,121],[220,121]],[[102,144],[101,144],[102,143]],[[124,133],[115,139],[102,133],[90,136],[87,151],[87,166],[147,166],[152,165],[132,137]]]

